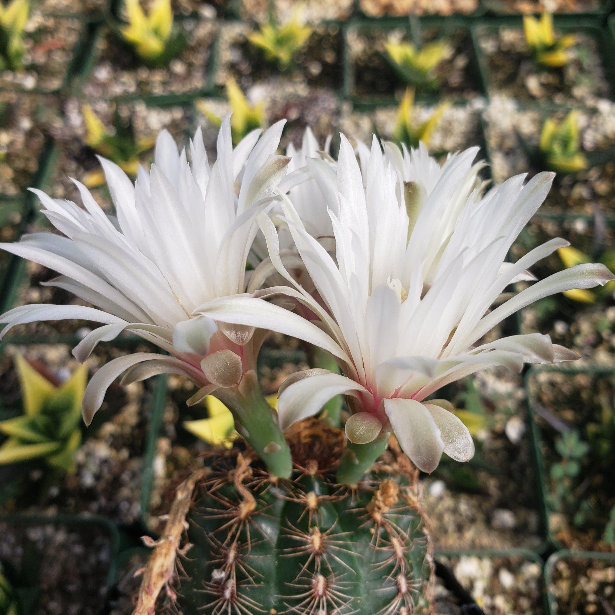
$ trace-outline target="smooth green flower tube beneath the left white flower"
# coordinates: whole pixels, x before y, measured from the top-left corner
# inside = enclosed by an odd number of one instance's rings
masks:
[[[290,477],[290,449],[277,424],[275,411],[261,392],[255,371],[244,374],[238,386],[217,389],[215,395],[231,410],[240,434],[260,456],[270,474],[278,478]]]

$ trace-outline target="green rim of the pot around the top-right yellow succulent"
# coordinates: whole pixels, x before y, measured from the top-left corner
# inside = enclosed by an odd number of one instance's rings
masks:
[[[585,31],[598,41],[601,60],[605,69],[606,80],[611,86],[610,94],[611,97],[613,97],[613,84],[615,82],[615,62],[605,30],[600,28],[600,25],[598,25],[598,22],[596,20],[592,20],[588,17],[574,17],[572,15],[556,15],[554,18],[554,26],[555,30],[561,31],[563,33]],[[480,70],[481,78],[483,81],[483,89],[485,90],[488,98],[493,95],[498,95],[498,92],[493,90],[493,88],[491,87],[491,71],[489,69],[485,54],[483,53],[483,50],[480,47],[480,43],[478,42],[478,34],[481,30],[497,32],[499,28],[502,27],[517,28],[518,30],[523,30],[522,17],[510,16],[493,18],[490,20],[485,20],[485,22],[482,23],[475,22],[471,28],[472,42],[474,44],[474,53],[477,57],[478,68]],[[547,109],[561,108],[560,106],[553,105],[553,103],[551,103],[549,100],[544,101],[544,103],[539,103],[538,101],[536,101],[534,102],[534,105],[539,105],[541,107],[544,106],[544,108]]]

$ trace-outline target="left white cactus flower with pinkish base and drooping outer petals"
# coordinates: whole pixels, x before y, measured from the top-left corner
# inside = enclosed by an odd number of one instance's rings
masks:
[[[135,185],[111,161],[100,159],[116,208],[114,223],[92,194],[75,181],[84,208],[54,200],[39,190],[42,213],[62,233],[37,232],[8,252],[30,259],[60,277],[48,282],[96,306],[36,304],[0,317],[1,335],[36,320],[83,319],[102,323],[74,348],[84,361],[100,341],[131,330],[171,356],[140,352],[100,368],[84,397],[87,423],[117,376],[124,383],[156,373],[191,378],[202,399],[216,387],[234,386],[255,367],[263,335],[253,328],[225,326],[195,312],[205,301],[245,292],[245,265],[258,227],[256,216],[270,207],[272,193],[287,173],[277,156],[284,122],[262,137],[247,135],[235,149],[230,116],[218,135],[210,167],[200,129],[186,151],[164,131],[156,141],[151,170],[141,168]],[[236,183],[239,190],[236,193]]]

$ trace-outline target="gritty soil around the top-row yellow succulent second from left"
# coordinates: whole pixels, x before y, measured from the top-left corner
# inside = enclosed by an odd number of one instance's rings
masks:
[[[80,77],[81,95],[86,100],[156,97],[178,101],[208,92],[213,85],[216,23],[175,15],[173,28],[186,37],[185,47],[164,65],[148,68],[114,30],[101,26]]]

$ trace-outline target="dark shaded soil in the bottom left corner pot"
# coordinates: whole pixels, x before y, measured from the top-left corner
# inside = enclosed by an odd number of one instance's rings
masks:
[[[36,615],[100,613],[112,557],[105,526],[0,523],[0,558],[25,568],[22,586]]]

